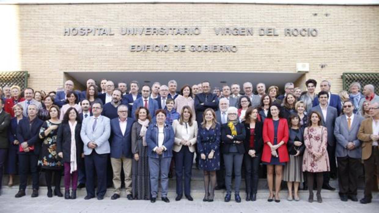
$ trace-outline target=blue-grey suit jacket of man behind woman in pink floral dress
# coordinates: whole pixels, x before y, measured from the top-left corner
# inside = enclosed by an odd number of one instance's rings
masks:
[[[326,120],[324,120],[323,111],[321,110],[320,105],[312,107],[312,109],[309,110],[308,115],[310,115],[310,112],[312,111],[317,111],[318,113],[320,113],[321,118],[322,118],[321,125],[326,127],[328,131],[328,145],[335,146],[334,125],[335,125],[335,120],[338,117],[337,109],[335,109],[334,107],[328,106],[326,109]]]

